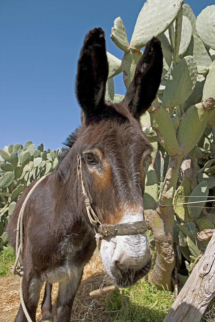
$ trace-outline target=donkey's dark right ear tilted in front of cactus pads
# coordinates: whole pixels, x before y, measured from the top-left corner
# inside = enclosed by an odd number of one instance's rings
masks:
[[[125,106],[139,118],[156,97],[163,69],[163,53],[158,38],[153,37],[147,44],[140,58],[134,79],[128,87],[123,100]]]

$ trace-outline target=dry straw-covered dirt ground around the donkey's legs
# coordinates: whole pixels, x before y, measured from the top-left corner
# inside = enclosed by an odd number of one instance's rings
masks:
[[[100,259],[100,255],[97,251],[93,254],[91,260],[84,268],[83,278],[78,289],[73,308],[71,321],[81,321],[85,312],[91,304],[92,298],[89,296],[89,292],[94,289],[98,289],[105,276],[104,268]],[[19,298],[19,276],[8,276],[0,278],[0,321],[11,322],[14,321],[15,315],[18,311],[20,298]],[[40,299],[38,302],[38,308],[36,312],[36,321],[39,322],[42,318],[41,315],[41,303],[44,294],[43,286]],[[56,297],[57,297],[58,284],[54,284],[52,288],[52,316],[54,317],[56,311]],[[92,322],[108,322],[110,317],[104,305],[105,298],[97,297],[96,304],[92,312],[89,313],[86,321]]]

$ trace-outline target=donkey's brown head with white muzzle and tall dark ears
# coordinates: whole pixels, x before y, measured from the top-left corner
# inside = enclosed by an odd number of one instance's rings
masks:
[[[95,28],[85,37],[76,81],[82,127],[74,148],[81,155],[84,186],[101,223],[144,219],[144,169],[152,146],[141,130],[139,116],[157,94],[162,67],[160,41],[152,38],[124,100],[105,102],[108,61],[104,32]],[[105,237],[100,255],[109,277],[121,287],[132,285],[151,267],[145,233]]]

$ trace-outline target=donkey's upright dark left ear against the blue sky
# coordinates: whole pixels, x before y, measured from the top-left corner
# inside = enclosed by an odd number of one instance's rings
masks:
[[[94,28],[85,36],[76,76],[76,96],[87,118],[104,109],[107,78],[105,34],[101,28]]]

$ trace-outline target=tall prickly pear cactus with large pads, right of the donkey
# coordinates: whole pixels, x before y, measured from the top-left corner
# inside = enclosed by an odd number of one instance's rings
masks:
[[[146,173],[144,204],[145,209],[156,206],[168,178],[170,189],[165,197],[174,206],[174,249],[180,280],[185,281],[207,245],[199,242],[198,232],[215,225],[215,204],[209,201],[215,195],[215,5],[203,9],[196,19],[183,1],[164,5],[162,0],[147,0],[130,43],[118,17],[111,39],[123,51],[122,61],[112,60],[117,73],[123,72],[126,88],[134,77],[141,49],[153,36],[160,38],[164,58],[157,99],[140,118],[144,133],[156,144],[154,161]],[[107,100],[123,99],[110,88],[108,81]],[[183,167],[181,174],[168,170],[171,160],[181,162],[187,154],[195,168],[191,175]],[[187,276],[180,270],[185,260]]]

